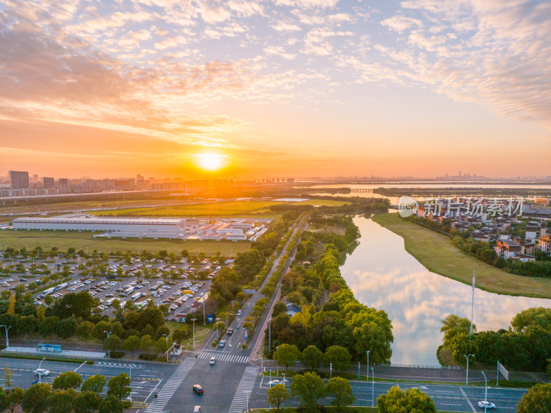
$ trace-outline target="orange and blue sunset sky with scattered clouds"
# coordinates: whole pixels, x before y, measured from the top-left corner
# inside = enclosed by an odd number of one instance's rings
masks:
[[[550,39],[548,1],[3,0],[0,174],[551,175]]]

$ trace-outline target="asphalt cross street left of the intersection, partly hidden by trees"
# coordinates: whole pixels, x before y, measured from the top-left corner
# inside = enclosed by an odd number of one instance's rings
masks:
[[[26,359],[0,359],[0,368],[8,365],[12,371],[12,387],[30,387],[32,381],[37,379],[33,373],[39,367],[40,360]],[[121,373],[130,374],[130,363],[121,361],[114,363],[112,361],[95,361],[94,365],[80,365],[78,363],[65,363],[62,361],[43,361],[41,368],[50,370],[49,376],[43,376],[43,383],[52,383],[59,374],[67,371],[76,371],[81,374],[83,380],[94,374],[102,374],[107,379],[117,376]],[[138,361],[133,363],[132,367],[132,401],[145,401],[148,397],[153,397],[154,392],[159,385],[163,383],[177,365],[165,363],[149,363],[147,361]],[[4,386],[3,372],[0,374],[0,385]],[[107,392],[107,385],[103,389],[103,396]]]

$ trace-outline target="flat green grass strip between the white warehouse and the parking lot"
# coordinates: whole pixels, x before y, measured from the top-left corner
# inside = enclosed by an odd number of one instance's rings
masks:
[[[67,250],[67,248],[73,247],[76,250],[83,248],[88,252],[98,250],[99,252],[107,252],[109,248],[111,251],[132,251],[138,252],[147,250],[149,252],[158,252],[160,250],[181,251],[188,250],[190,254],[198,254],[204,252],[207,255],[216,254],[221,252],[222,255],[229,256],[230,252],[233,256],[237,252],[247,252],[251,248],[251,243],[247,241],[233,242],[233,241],[182,241],[179,239],[173,240],[157,240],[157,239],[94,239],[92,238],[92,232],[65,232],[65,231],[0,231],[0,245],[2,249],[8,247],[12,248],[25,248],[28,246],[29,250],[35,247],[42,247],[43,250],[50,250],[53,246],[56,246],[60,250]]]

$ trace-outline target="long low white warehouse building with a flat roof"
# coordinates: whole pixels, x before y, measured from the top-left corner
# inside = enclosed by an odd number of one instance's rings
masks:
[[[186,220],[170,218],[106,218],[88,214],[16,218],[14,230],[101,231],[106,236],[185,237]]]

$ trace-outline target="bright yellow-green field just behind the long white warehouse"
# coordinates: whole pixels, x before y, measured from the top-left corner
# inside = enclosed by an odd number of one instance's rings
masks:
[[[232,201],[216,203],[196,203],[171,205],[158,208],[127,208],[124,210],[94,211],[90,214],[101,216],[236,216],[256,214],[266,210],[275,201]],[[273,214],[273,212],[271,212]]]

